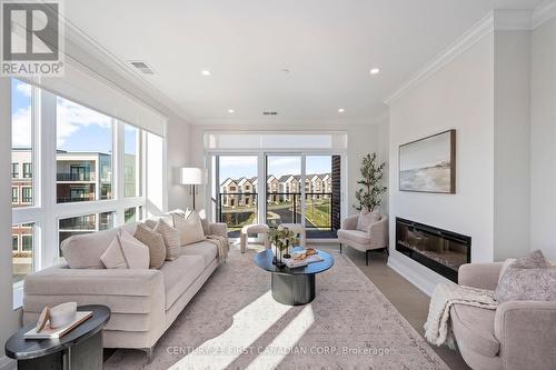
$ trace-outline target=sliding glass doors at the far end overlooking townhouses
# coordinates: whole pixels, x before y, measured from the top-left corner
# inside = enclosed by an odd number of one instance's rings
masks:
[[[340,156],[259,152],[214,156],[211,163],[212,209],[230,237],[250,223],[302,223],[308,238],[336,238]]]

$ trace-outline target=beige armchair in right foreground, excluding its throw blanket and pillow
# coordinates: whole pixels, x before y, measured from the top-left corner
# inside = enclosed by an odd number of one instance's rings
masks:
[[[502,266],[463,264],[458,283],[494,290]],[[475,370],[556,367],[556,301],[508,301],[496,310],[454,304],[450,326],[464,360]]]

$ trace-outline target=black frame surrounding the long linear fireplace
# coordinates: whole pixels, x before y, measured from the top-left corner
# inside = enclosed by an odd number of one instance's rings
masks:
[[[410,228],[411,230],[419,230],[419,231],[428,232],[431,234],[436,234],[440,238],[451,240],[451,241],[457,241],[461,244],[467,246],[468,247],[467,248],[467,263],[471,262],[471,237],[467,237],[467,236],[464,236],[464,234],[460,234],[460,233],[457,233],[454,231],[448,231],[448,230],[431,227],[429,224],[419,223],[419,222],[415,222],[411,220],[406,220],[406,219],[396,217],[396,250],[398,252],[409,257],[410,259],[419,262],[420,264],[429,268],[430,270],[433,270],[433,271],[441,274],[443,277],[457,283],[457,277],[458,277],[457,271],[455,271],[455,270],[450,269],[449,267],[447,267],[440,262],[437,262],[437,261],[435,261],[435,260],[433,260],[433,259],[430,259],[421,253],[415,252],[414,250],[403,246],[399,242],[400,236],[398,236],[398,232],[399,232],[398,224],[406,226],[406,227]]]

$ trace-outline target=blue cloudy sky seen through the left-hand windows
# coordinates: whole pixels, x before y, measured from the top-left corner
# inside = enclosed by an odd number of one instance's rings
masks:
[[[12,79],[12,147],[31,147],[31,86]],[[57,149],[112,152],[112,123],[108,116],[57,98]],[[135,154],[138,129],[125,126],[125,152]]]

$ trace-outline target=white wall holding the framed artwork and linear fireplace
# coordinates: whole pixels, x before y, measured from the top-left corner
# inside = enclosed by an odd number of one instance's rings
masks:
[[[494,36],[480,39],[390,104],[390,260],[430,292],[444,278],[395,250],[395,217],[473,238],[471,260],[493,260]],[[398,147],[456,129],[456,194],[400,192]]]

